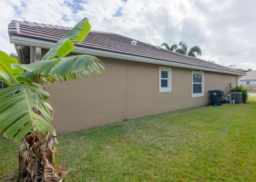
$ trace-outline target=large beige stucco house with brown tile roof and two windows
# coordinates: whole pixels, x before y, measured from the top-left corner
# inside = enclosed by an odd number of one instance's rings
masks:
[[[12,21],[10,41],[21,63],[35,62],[70,28]],[[73,54],[102,60],[101,75],[47,85],[58,132],[206,105],[208,90],[237,85],[245,73],[122,35],[91,31]]]

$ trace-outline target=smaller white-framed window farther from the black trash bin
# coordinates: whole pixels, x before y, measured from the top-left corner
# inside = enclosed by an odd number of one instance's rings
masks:
[[[159,92],[171,91],[171,68],[159,67]]]

